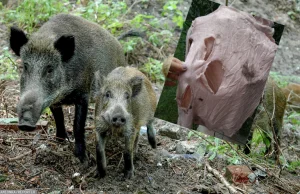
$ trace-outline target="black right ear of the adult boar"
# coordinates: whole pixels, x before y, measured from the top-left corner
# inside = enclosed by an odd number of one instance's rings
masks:
[[[72,35],[63,35],[54,43],[54,47],[60,52],[63,62],[68,62],[75,51],[75,38]]]

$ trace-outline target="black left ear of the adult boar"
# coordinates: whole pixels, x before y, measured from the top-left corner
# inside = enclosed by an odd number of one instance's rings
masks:
[[[21,29],[14,26],[10,27],[9,44],[17,56],[20,56],[21,47],[27,42],[28,38]]]

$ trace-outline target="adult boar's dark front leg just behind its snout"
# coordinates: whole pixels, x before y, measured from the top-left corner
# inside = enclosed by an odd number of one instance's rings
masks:
[[[64,121],[64,113],[62,107],[50,107],[50,110],[54,116],[55,125],[56,125],[56,137],[58,137],[59,141],[64,141],[68,138],[65,121]]]

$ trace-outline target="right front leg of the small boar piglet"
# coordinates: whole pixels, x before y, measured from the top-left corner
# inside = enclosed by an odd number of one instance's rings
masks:
[[[136,132],[134,129],[129,133],[125,134],[125,151],[124,151],[124,176],[125,178],[130,179],[133,177],[133,149],[134,149],[134,142],[136,137]]]

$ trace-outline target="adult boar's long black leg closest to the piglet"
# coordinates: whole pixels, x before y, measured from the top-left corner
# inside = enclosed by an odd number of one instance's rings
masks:
[[[75,104],[74,137],[75,156],[83,163],[86,159],[85,146],[85,121],[88,111],[88,95],[83,95]]]

